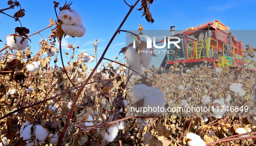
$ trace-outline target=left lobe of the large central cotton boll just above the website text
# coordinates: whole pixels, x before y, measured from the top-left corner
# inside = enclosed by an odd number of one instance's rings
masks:
[[[145,96],[147,96],[149,94],[151,94],[151,91],[150,91],[149,87],[146,86],[145,84],[134,85],[132,92],[131,92],[134,103],[143,99]]]

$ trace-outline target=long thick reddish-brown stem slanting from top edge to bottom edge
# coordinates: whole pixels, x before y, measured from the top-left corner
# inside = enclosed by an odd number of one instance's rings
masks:
[[[71,116],[73,114],[73,111],[75,109],[75,105],[76,105],[76,102],[78,101],[78,98],[79,96],[81,95],[81,92],[83,91],[84,87],[86,86],[86,84],[88,83],[88,81],[91,79],[91,76],[93,75],[93,73],[95,72],[95,70],[97,69],[97,67],[100,65],[101,61],[103,60],[104,58],[104,55],[106,54],[107,52],[107,49],[109,48],[110,44],[112,43],[113,39],[116,37],[116,35],[118,34],[119,30],[121,29],[121,27],[123,26],[123,23],[126,21],[127,17],[130,15],[130,13],[132,12],[133,8],[136,6],[136,4],[139,2],[139,0],[136,1],[136,3],[134,4],[134,6],[131,6],[130,7],[130,10],[129,12],[126,14],[125,18],[123,19],[123,21],[121,22],[120,26],[118,27],[117,31],[114,33],[113,37],[111,38],[111,40],[109,41],[109,43],[107,44],[107,47],[105,48],[102,56],[100,57],[99,59],[99,62],[96,64],[96,66],[94,67],[94,69],[91,71],[91,74],[88,76],[88,78],[86,79],[86,81],[84,82],[84,84],[82,85],[81,89],[78,91],[77,95],[76,95],[76,98],[75,98],[75,101],[74,101],[74,104],[72,105],[71,109],[70,109],[70,113],[68,114],[68,118],[67,118],[67,121],[66,121],[66,124],[65,124],[65,127],[58,139],[58,143],[57,143],[57,146],[60,146],[61,143],[62,143],[62,139],[67,131],[67,128],[68,128],[68,124],[69,124],[69,121],[71,119]]]

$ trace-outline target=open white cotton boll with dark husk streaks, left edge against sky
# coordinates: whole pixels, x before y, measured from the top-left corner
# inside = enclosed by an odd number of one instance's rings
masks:
[[[16,49],[17,51],[23,51],[27,48],[28,41],[22,36],[13,34],[13,35],[8,35],[6,37],[6,44],[11,49]]]

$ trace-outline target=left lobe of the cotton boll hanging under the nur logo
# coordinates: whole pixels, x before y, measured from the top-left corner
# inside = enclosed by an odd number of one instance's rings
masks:
[[[129,46],[126,49],[126,59],[132,69],[141,70],[142,65],[140,64],[140,54],[136,53],[136,48]]]

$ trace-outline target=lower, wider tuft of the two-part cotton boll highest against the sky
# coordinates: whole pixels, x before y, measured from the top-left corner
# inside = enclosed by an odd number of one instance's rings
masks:
[[[71,24],[62,24],[62,30],[65,34],[75,37],[82,37],[86,32],[86,29],[83,26]]]

